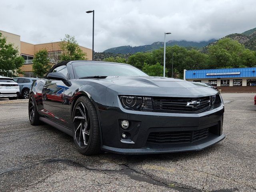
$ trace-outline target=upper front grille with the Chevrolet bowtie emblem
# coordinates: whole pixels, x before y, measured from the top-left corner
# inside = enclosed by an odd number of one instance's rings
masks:
[[[189,106],[187,106],[190,103]],[[153,110],[173,113],[200,113],[209,109],[211,97],[153,97]]]

